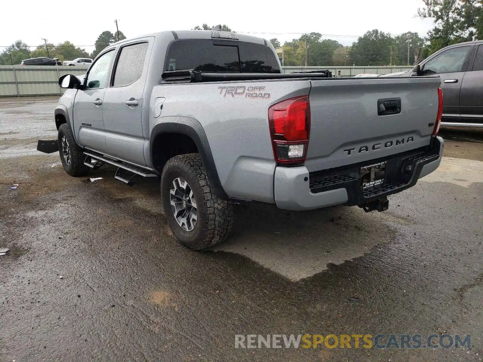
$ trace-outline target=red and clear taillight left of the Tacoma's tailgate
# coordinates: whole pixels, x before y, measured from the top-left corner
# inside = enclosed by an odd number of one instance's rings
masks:
[[[305,161],[310,133],[309,96],[286,99],[271,106],[269,125],[275,160]]]

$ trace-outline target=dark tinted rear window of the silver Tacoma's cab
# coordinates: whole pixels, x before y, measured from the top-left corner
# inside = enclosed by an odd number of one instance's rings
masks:
[[[210,73],[280,73],[277,59],[268,46],[209,39],[173,42],[164,69],[193,69]]]

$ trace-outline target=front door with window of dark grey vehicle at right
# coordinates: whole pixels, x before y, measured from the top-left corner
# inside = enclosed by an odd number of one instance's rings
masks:
[[[472,45],[455,46],[430,58],[423,66],[424,75],[439,75],[443,91],[443,117],[459,117],[459,93]]]

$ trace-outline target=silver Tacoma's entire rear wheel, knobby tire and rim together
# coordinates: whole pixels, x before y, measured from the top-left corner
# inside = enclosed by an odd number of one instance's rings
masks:
[[[161,196],[173,235],[188,248],[206,249],[228,237],[232,202],[215,195],[198,153],[168,160],[161,175]]]

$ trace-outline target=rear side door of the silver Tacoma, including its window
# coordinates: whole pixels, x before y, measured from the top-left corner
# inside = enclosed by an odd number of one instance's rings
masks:
[[[104,95],[103,117],[108,154],[140,166],[146,165],[142,111],[149,114],[149,97],[146,99],[147,106],[142,104],[148,47],[148,40],[138,40],[120,48],[111,86]]]

